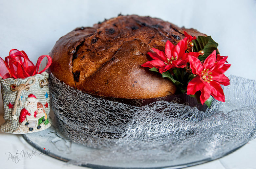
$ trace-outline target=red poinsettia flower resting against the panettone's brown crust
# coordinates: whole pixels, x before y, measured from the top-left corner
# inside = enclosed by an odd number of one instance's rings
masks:
[[[187,38],[181,40],[176,46],[170,41],[165,44],[165,52],[152,48],[156,53],[149,52],[148,55],[154,59],[142,64],[142,67],[158,68],[163,73],[171,68],[184,68],[188,62],[188,56],[198,57],[199,53],[185,53],[187,49]]]

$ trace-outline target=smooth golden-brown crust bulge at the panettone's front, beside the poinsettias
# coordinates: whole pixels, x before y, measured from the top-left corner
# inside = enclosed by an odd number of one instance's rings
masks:
[[[141,40],[125,42],[112,59],[77,87],[109,97],[154,98],[174,94],[175,87],[169,80],[140,66],[148,61],[147,52],[152,51]]]

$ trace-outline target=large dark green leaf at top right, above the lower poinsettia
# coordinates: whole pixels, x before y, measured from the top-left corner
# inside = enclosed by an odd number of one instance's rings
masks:
[[[198,57],[200,61],[205,60],[214,50],[216,50],[216,54],[220,54],[217,49],[219,44],[212,40],[211,36],[198,36],[193,42],[195,44],[193,47],[194,52],[204,51],[204,55]]]

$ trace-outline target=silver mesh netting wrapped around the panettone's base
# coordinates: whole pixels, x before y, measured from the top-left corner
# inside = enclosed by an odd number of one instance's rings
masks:
[[[213,100],[203,112],[161,100],[142,107],[114,102],[69,87],[51,74],[51,106],[59,130],[75,143],[101,148],[103,159],[221,156],[256,138],[256,81],[229,79],[230,85],[223,86],[226,102]]]

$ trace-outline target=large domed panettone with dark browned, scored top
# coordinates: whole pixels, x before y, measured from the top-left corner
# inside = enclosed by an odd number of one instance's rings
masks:
[[[76,28],[61,37],[50,55],[51,72],[60,81],[86,93],[115,98],[156,98],[174,94],[174,84],[148,68],[152,47],[164,51],[184,31],[205,36],[158,18],[118,16],[93,27]]]

